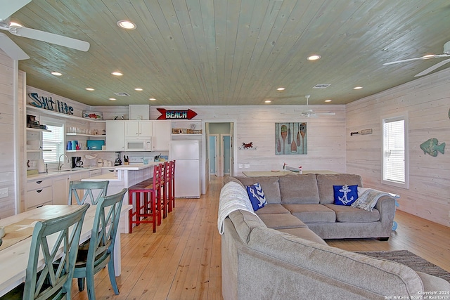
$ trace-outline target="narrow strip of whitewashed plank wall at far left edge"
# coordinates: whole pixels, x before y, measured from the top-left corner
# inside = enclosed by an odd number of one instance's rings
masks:
[[[8,197],[0,199],[0,218],[15,213],[13,79],[14,62],[0,50],[0,188],[8,188]]]

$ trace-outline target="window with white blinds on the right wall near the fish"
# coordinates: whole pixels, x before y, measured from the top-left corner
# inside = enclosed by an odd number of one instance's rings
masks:
[[[408,188],[408,120],[383,119],[383,183]]]

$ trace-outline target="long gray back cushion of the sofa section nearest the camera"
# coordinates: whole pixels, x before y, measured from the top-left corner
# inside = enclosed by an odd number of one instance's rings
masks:
[[[379,294],[380,299],[386,295],[418,296],[424,290],[418,274],[401,263],[347,252],[271,228],[252,230],[248,247],[329,280]]]

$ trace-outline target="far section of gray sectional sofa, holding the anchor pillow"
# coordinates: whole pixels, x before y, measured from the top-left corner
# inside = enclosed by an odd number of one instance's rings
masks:
[[[269,228],[295,228],[293,216],[323,239],[376,237],[387,240],[392,232],[395,200],[380,197],[372,211],[333,204],[333,185],[363,187],[355,174],[304,174],[267,177],[232,177],[242,185],[259,183],[267,205],[256,214]]]

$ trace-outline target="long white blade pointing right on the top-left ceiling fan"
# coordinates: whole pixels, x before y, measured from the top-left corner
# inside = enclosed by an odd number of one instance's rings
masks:
[[[17,35],[18,37],[27,37],[29,39],[37,39],[38,41],[46,41],[47,43],[56,44],[79,51],[88,51],[89,46],[91,46],[87,41],[72,39],[71,37],[64,37],[63,35],[34,30],[27,27],[9,27],[9,32]]]

